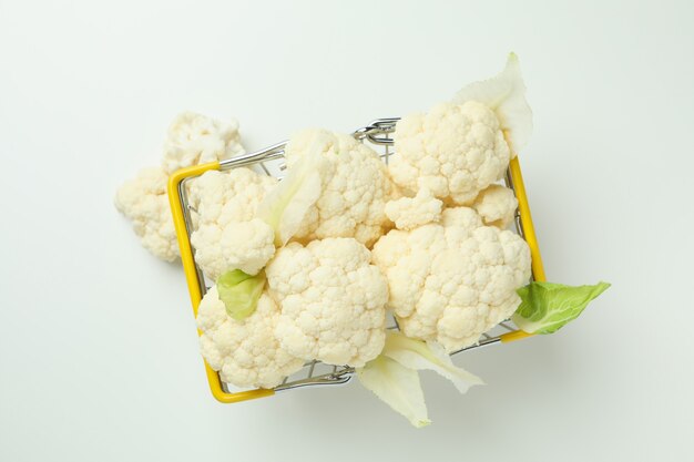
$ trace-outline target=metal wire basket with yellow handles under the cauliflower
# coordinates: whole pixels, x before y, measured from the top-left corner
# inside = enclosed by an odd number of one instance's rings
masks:
[[[353,136],[363,143],[370,144],[371,147],[379,153],[382,161],[388,164],[390,156],[395,154],[392,150],[394,140],[390,135],[395,131],[398,120],[399,119],[397,117],[375,120],[370,124],[356,130],[353,133]],[[280,178],[282,172],[284,171],[282,158],[284,157],[286,144],[287,142],[282,142],[264,150],[244,154],[226,161],[182,168],[169,178],[169,199],[178,238],[178,246],[181,248],[181,260],[191,295],[193,314],[195,316],[197,316],[197,307],[207,290],[207,286],[202,270],[195,263],[194,251],[191,247],[191,234],[193,233],[194,227],[191,215],[192,209],[187,201],[187,189],[185,187],[186,182],[211,170],[227,171],[232,168],[252,166],[257,166],[267,175],[274,174],[274,176]],[[271,173],[271,171],[274,172]],[[519,205],[516,212],[514,227],[517,233],[525,239],[528,246],[530,247],[530,255],[532,258],[532,278],[534,280],[544,280],[542,259],[532,225],[532,218],[528,206],[525,187],[523,185],[518,157],[514,157],[510,162],[504,182],[508,187],[513,189],[516,197],[518,198]],[[395,321],[391,322],[389,328],[397,328]],[[504,343],[525,337],[530,337],[530,335],[518,330],[509,320],[507,320],[490,331],[483,333],[477,345],[456,351],[453,355],[468,351],[473,348]],[[341,384],[348,382],[354,374],[354,368],[348,366],[327,366],[319,361],[309,361],[304,365],[304,368],[300,371],[285,378],[285,380],[274,389],[236,391],[233,390],[229,384],[223,382],[220,374],[215,372],[206,362],[205,371],[212,394],[218,401],[225,403],[263,398],[272,396],[276,391],[292,390],[300,387]]]

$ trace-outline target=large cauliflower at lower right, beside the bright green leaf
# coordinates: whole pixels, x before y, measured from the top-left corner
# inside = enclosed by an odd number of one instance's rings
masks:
[[[402,332],[449,352],[511,316],[520,302],[516,289],[530,278],[525,242],[484,226],[468,207],[443,211],[441,224],[391,230],[372,256]]]

